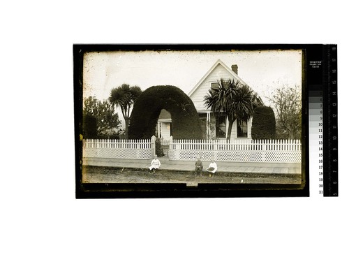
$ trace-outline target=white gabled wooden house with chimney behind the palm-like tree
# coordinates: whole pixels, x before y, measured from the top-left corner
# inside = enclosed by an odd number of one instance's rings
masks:
[[[209,93],[211,87],[218,86],[218,80],[221,78],[239,80],[242,85],[247,85],[246,82],[237,75],[237,69],[237,65],[232,65],[232,67],[229,68],[223,63],[223,61],[218,59],[218,61],[216,61],[209,71],[207,71],[207,73],[200,79],[198,84],[191,89],[191,92],[188,93],[188,96],[191,98],[196,110],[198,111],[201,120],[201,129],[204,132],[204,138],[225,139],[227,137],[227,115],[222,112],[222,114],[216,118],[214,113],[206,108],[204,97]],[[162,111],[162,113],[164,112]],[[166,117],[163,116],[164,115],[160,115],[158,119],[158,137],[169,138],[171,129],[169,113],[166,113]],[[232,125],[230,139],[251,139],[251,123],[252,119],[249,119],[248,122],[236,120]]]

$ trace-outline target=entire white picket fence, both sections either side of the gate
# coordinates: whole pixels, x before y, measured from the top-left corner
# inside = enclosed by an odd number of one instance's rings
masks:
[[[155,154],[155,141],[84,139],[83,157],[114,159],[151,159]],[[177,161],[302,163],[300,140],[176,140],[168,141],[168,159]]]

